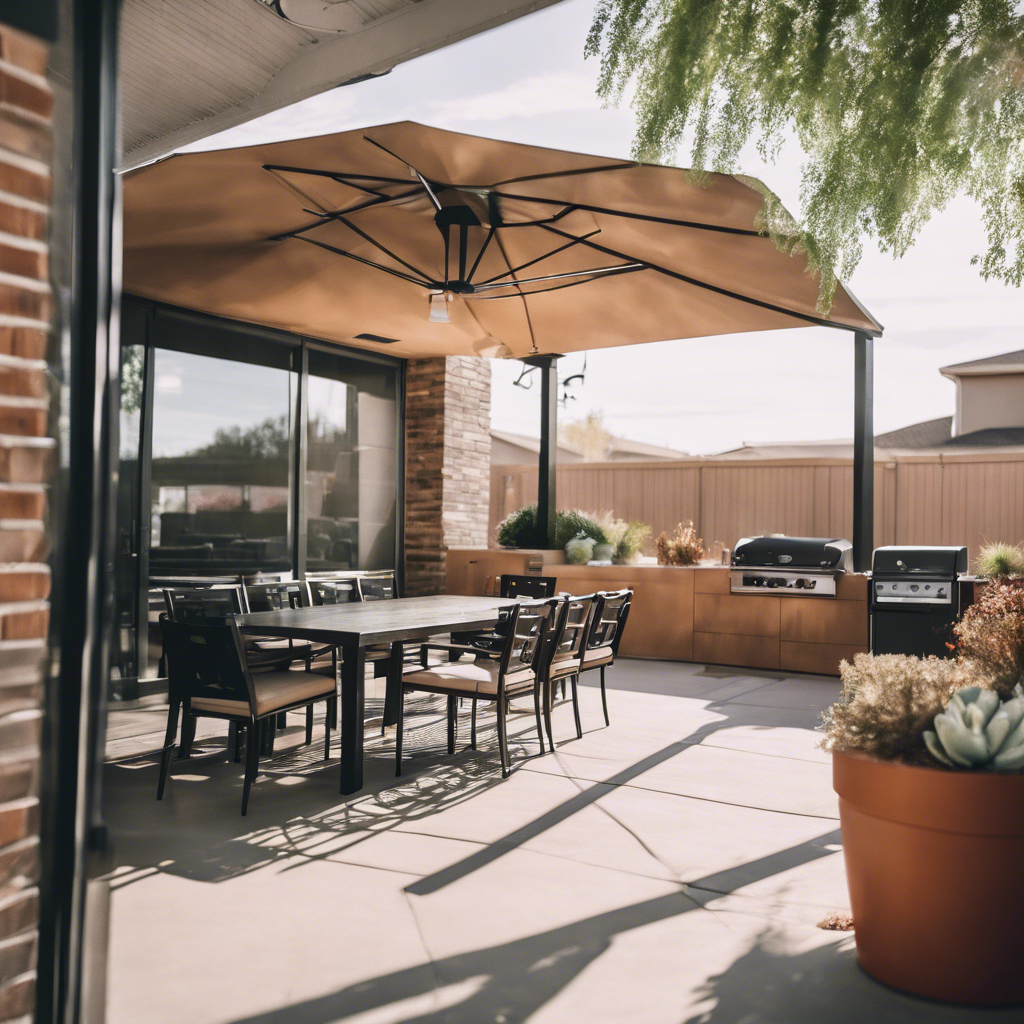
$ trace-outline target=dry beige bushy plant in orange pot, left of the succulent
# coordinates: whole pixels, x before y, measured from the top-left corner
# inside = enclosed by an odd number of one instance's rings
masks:
[[[857,654],[840,666],[843,693],[821,719],[826,751],[935,765],[925,730],[969,680],[965,667],[938,657]]]

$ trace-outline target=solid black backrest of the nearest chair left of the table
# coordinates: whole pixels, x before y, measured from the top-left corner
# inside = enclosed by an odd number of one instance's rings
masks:
[[[172,701],[194,697],[242,700],[255,717],[256,691],[232,617],[174,622],[162,614],[160,629]]]

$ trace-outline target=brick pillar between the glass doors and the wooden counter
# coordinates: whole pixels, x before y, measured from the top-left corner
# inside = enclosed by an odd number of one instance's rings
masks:
[[[490,364],[412,359],[406,371],[406,594],[444,592],[449,548],[486,547]]]

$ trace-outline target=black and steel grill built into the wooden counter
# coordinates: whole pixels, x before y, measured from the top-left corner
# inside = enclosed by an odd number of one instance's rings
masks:
[[[849,541],[824,537],[744,537],[732,551],[734,594],[835,597],[836,581],[853,571]]]

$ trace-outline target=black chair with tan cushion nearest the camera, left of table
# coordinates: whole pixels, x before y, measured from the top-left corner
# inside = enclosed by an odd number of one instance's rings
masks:
[[[168,652],[169,708],[167,732],[160,756],[157,799],[164,799],[182,715],[179,757],[188,758],[196,736],[196,720],[215,718],[234,725],[246,736],[246,769],[242,786],[242,813],[249,807],[249,793],[258,774],[261,749],[273,753],[274,723],[288,711],[312,708],[334,696],[334,684],[305,672],[253,674],[246,663],[242,635],[229,615],[222,620],[174,622],[161,616],[164,647]],[[258,733],[262,732],[263,736]],[[261,741],[264,740],[264,741]],[[331,752],[331,716],[327,716],[324,759]]]

